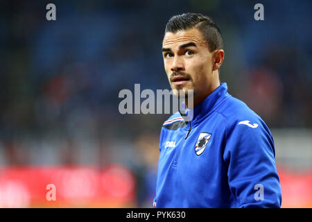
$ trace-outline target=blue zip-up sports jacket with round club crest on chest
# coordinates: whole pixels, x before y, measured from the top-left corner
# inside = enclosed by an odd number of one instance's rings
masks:
[[[184,121],[162,126],[154,207],[280,207],[266,123],[221,85]]]

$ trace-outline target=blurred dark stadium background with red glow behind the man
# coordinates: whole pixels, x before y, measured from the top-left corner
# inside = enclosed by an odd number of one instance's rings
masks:
[[[57,20],[46,20],[55,3]],[[263,3],[265,21],[254,20]],[[220,26],[220,79],[268,124],[282,207],[312,207],[311,1],[1,1],[0,207],[152,207],[167,114],[119,114],[121,89],[168,89],[168,19]],[[55,184],[56,201],[46,200]]]

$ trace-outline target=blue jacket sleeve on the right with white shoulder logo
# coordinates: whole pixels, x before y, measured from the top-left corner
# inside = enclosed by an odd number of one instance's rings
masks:
[[[260,118],[227,125],[223,159],[236,207],[281,207],[274,141]]]

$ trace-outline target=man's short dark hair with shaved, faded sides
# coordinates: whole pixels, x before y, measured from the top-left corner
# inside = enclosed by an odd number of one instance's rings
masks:
[[[200,13],[184,13],[171,17],[166,24],[165,34],[168,32],[187,31],[191,28],[197,28],[202,33],[210,52],[216,49],[223,49],[220,28],[210,17]]]

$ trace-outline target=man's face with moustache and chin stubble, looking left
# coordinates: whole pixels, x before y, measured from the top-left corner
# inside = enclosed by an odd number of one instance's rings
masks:
[[[193,89],[195,97],[207,93],[212,76],[212,53],[198,29],[166,33],[162,53],[173,92],[183,89],[187,94],[188,89]]]

